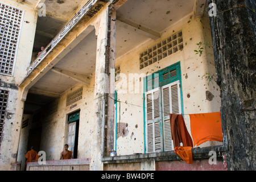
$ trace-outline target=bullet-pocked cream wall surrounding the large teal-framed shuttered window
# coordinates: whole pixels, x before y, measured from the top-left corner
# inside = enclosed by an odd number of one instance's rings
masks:
[[[183,35],[183,49],[140,69],[141,52],[179,31],[182,31]],[[201,47],[204,48],[201,55],[195,52],[196,49],[199,49],[197,44],[200,42]],[[216,71],[209,18],[207,16],[195,18],[193,15],[189,15],[164,31],[160,39],[149,40],[116,60],[121,77],[115,83],[117,100],[120,101],[116,104],[117,140],[115,146],[117,155],[144,153],[143,75],[147,76],[178,62],[180,62],[181,69],[183,114],[185,114],[185,124],[189,133],[191,133],[190,119],[186,114],[220,111],[220,90],[215,81],[208,82],[204,77],[207,76],[206,72],[213,77],[216,76],[214,75]],[[138,75],[134,81],[129,80],[130,73]],[[124,82],[127,84],[123,84]],[[138,83],[140,85],[139,93],[135,91],[135,84],[138,85]],[[127,85],[127,87],[123,85]],[[222,143],[205,142],[200,147],[218,144]]]

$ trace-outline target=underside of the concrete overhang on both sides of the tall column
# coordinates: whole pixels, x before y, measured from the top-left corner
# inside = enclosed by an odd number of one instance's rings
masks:
[[[185,16],[200,14],[204,9],[202,3],[201,0],[115,1],[116,59],[145,42],[161,38],[164,31]],[[88,85],[86,78],[95,72],[97,51],[94,27],[84,26],[89,19],[89,16],[82,18],[19,86],[27,92],[38,90],[38,94],[56,97],[79,82]]]

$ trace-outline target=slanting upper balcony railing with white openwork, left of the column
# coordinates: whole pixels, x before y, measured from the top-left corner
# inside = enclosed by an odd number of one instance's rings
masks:
[[[79,22],[80,19],[84,17],[85,14],[92,16],[93,13],[89,13],[90,9],[96,4],[98,0],[89,0],[86,2],[84,6],[76,13],[75,16],[65,25],[65,27],[53,38],[51,43],[44,49],[44,51],[36,58],[36,60],[27,68],[27,75],[30,73],[41,63],[41,61],[52,51],[53,48],[64,38],[65,35],[68,34],[69,31],[72,30],[73,27]]]

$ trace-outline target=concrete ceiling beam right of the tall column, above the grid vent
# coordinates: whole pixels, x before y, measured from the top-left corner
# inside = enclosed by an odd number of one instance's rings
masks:
[[[119,26],[123,28],[127,28],[128,30],[137,32],[138,34],[147,36],[148,38],[151,39],[159,39],[160,38],[160,33],[156,32],[148,27],[143,26],[142,24],[133,22],[129,19],[126,19],[123,16],[117,16],[118,24]]]

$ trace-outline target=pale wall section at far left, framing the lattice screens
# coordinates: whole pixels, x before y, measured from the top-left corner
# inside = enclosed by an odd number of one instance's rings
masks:
[[[20,19],[19,26],[19,35],[16,37],[17,39],[13,42],[14,44],[17,44],[16,52],[12,52],[15,55],[15,61],[13,63],[13,67],[9,65],[13,68],[13,74],[0,74],[1,90],[9,91],[9,96],[7,98],[6,104],[6,115],[1,136],[0,170],[2,171],[10,170],[11,163],[16,163],[19,134],[21,130],[20,122],[22,120],[21,118],[24,104],[23,101],[21,101],[22,90],[18,88],[18,84],[26,75],[26,69],[28,68],[31,62],[32,47],[34,44],[36,21],[38,14],[34,9],[31,9],[31,7],[22,5],[15,1],[3,0],[1,1],[1,3],[3,3],[2,6],[5,6],[1,7],[1,11],[7,11],[7,8],[14,8],[13,11],[16,11],[15,8],[22,11],[22,18]],[[13,18],[13,16],[11,16],[11,18]],[[5,22],[6,21],[6,26],[3,26],[6,29],[5,31],[3,31],[3,37],[1,38],[1,46],[5,47],[5,49],[7,48],[6,44],[4,45],[3,42],[3,40],[7,39],[5,32],[11,31],[11,27],[9,26],[10,24],[8,24],[8,22],[15,21],[15,19],[8,19],[7,17]],[[13,28],[13,31],[15,29],[16,28]],[[9,38],[12,39],[13,35]],[[10,56],[10,54],[7,56]],[[9,58],[7,57],[7,59]]]

